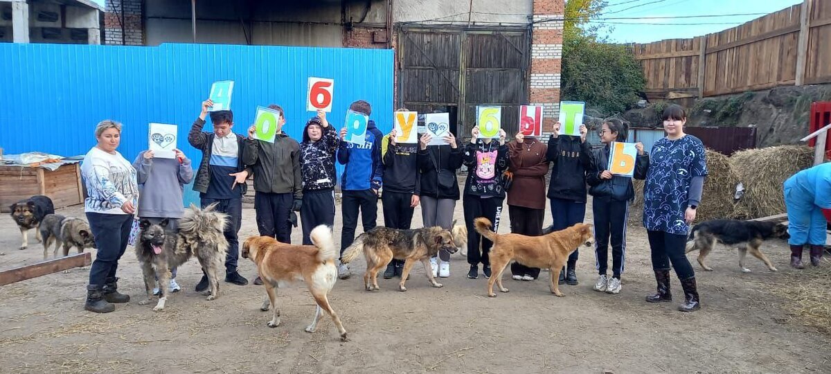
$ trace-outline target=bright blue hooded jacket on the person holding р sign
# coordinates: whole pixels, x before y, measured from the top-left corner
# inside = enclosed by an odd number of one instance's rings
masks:
[[[375,126],[375,121],[370,120],[366,124],[364,144],[355,145],[348,141],[341,141],[337,147],[337,162],[346,165],[341,175],[341,189],[347,191],[381,189],[381,180],[384,175],[384,165],[381,162],[381,139],[383,137],[381,130]]]

